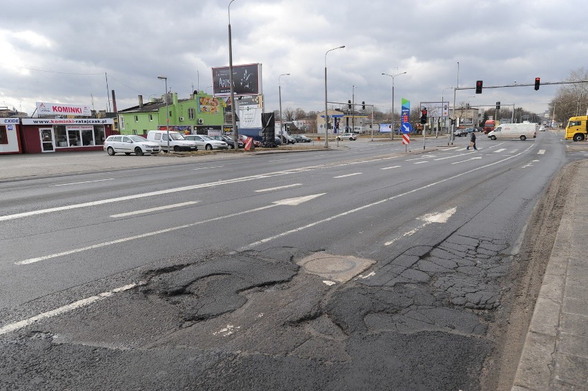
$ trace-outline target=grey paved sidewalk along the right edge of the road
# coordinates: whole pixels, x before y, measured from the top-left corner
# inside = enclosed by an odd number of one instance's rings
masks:
[[[588,159],[576,179],[511,391],[588,390]]]

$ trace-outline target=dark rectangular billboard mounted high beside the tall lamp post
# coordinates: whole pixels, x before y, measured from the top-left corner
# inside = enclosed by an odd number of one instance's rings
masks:
[[[262,64],[233,66],[235,96],[262,94]],[[228,66],[213,68],[213,95],[231,95],[231,78]]]

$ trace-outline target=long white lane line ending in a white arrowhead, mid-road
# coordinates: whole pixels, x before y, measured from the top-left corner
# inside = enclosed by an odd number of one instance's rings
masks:
[[[167,232],[173,232],[173,231],[177,231],[177,230],[182,230],[183,228],[190,228],[190,227],[193,227],[195,225],[200,225],[200,224],[204,224],[204,223],[210,223],[211,221],[218,221],[218,220],[222,220],[222,219],[227,219],[227,218],[230,218],[230,217],[235,217],[235,216],[239,216],[241,214],[246,214],[246,213],[250,213],[250,212],[259,212],[259,210],[265,210],[265,209],[269,209],[269,208],[274,208],[275,206],[278,206],[278,205],[299,205],[300,203],[303,203],[303,202],[306,202],[306,201],[310,201],[311,199],[314,199],[316,197],[320,197],[320,196],[322,196],[324,194],[326,194],[326,193],[313,194],[313,195],[309,195],[309,196],[305,196],[305,197],[296,197],[296,198],[291,198],[291,199],[281,199],[279,201],[273,201],[273,203],[271,205],[266,205],[266,206],[262,206],[262,207],[255,208],[255,209],[243,210],[241,212],[236,212],[236,213],[233,213],[233,214],[227,214],[226,216],[214,217],[213,219],[196,221],[195,223],[189,223],[189,224],[179,225],[177,227],[165,228],[163,230],[157,230],[157,231],[153,231],[153,232],[146,232],[144,234],[138,234],[138,235],[135,235],[135,236],[132,236],[132,237],[125,237],[125,238],[116,239],[116,240],[113,240],[113,241],[106,241],[104,243],[97,243],[97,244],[93,244],[93,245],[88,245],[86,247],[75,248],[73,250],[58,252],[56,254],[49,254],[49,255],[43,255],[42,257],[24,259],[23,261],[14,262],[14,265],[28,265],[29,263],[36,263],[36,262],[40,262],[40,261],[46,261],[47,259],[52,259],[52,258],[57,258],[57,257],[63,257],[64,255],[75,254],[77,252],[83,252],[83,251],[86,251],[86,250],[94,250],[96,248],[106,247],[108,245],[113,245],[113,244],[117,244],[117,243],[124,243],[126,241],[132,241],[132,240],[135,240],[135,239],[144,239],[146,237],[153,237],[153,236],[158,235],[158,234],[165,234]]]

